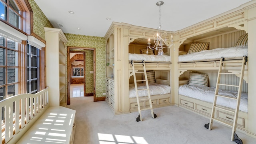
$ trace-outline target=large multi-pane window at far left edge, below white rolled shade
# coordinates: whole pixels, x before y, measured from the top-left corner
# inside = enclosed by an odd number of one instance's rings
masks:
[[[0,36],[0,100],[18,94],[18,46]]]

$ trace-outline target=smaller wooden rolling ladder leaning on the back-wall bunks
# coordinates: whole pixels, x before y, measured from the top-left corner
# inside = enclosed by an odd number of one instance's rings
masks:
[[[150,97],[150,92],[149,92],[149,86],[148,86],[148,77],[147,77],[147,72],[146,72],[146,66],[145,66],[145,62],[144,60],[142,62],[134,62],[133,60],[131,61],[132,64],[132,73],[133,73],[133,78],[134,78],[134,86],[135,86],[135,90],[136,90],[136,98],[137,98],[137,105],[138,105],[138,112],[139,112],[139,116],[136,118],[136,121],[142,121],[142,116],[141,116],[141,111],[142,110],[151,110],[151,115],[152,118],[156,118],[156,114],[154,114],[153,112],[153,107],[152,107],[152,102],[151,102],[151,97]],[[143,66],[143,72],[142,71],[135,71],[134,65],[142,65]],[[145,76],[145,80],[136,80],[136,73],[142,73]],[[146,89],[138,89],[137,87],[137,82],[145,82],[146,83]],[[139,90],[147,90],[148,91],[148,97],[140,97],[138,96],[138,91]],[[144,101],[144,100],[148,100],[149,101],[149,105],[150,107],[146,107],[146,108],[140,108],[140,102]]]

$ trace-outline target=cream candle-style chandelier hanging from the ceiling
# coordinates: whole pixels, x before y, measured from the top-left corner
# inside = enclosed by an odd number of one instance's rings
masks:
[[[171,45],[166,44],[167,33],[163,32],[163,30],[162,30],[162,26],[161,26],[161,6],[163,4],[164,4],[164,2],[162,2],[162,1],[156,3],[156,5],[159,6],[159,26],[157,28],[157,34],[153,35],[154,43],[155,43],[155,45],[153,47],[150,47],[151,43],[150,43],[150,39],[148,39],[147,54],[148,54],[148,48],[150,48],[151,50],[157,50],[158,55],[162,55],[162,54],[164,54],[163,48],[170,48],[172,45],[174,45],[172,43],[171,43]],[[163,36],[165,38],[162,38]]]

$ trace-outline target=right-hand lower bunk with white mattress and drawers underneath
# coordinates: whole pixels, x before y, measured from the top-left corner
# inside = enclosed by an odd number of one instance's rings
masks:
[[[189,86],[188,84],[179,87],[178,106],[186,108],[196,114],[209,118],[212,112],[212,102],[214,100],[215,88],[204,86]],[[219,91],[220,92],[220,91]],[[221,90],[222,94],[235,96],[237,92]],[[220,108],[234,110],[236,103],[226,98],[217,99],[216,103]],[[216,108],[214,112],[215,118],[233,123],[234,114]],[[206,121],[205,123],[208,123]],[[240,107],[238,112],[237,128],[241,132],[246,132],[248,129],[248,95],[242,93],[240,100]]]

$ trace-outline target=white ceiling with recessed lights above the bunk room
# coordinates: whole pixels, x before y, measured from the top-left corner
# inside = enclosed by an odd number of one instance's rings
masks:
[[[112,22],[148,28],[159,26],[159,6],[156,5],[159,0],[34,1],[54,28],[61,28],[64,33],[104,37]],[[175,32],[248,1],[250,0],[165,0],[161,6],[161,26],[163,30]],[[74,14],[68,11],[73,11]]]

